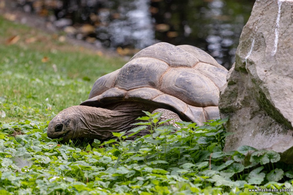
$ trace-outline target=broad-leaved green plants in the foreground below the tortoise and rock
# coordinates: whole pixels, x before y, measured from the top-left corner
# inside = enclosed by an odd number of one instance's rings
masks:
[[[1,124],[0,194],[254,194],[249,189],[290,189],[291,165],[275,151],[242,146],[223,152],[225,120],[180,129],[155,124],[153,134],[125,141],[60,144],[47,123]],[[140,118],[142,119],[142,118]],[[155,125],[154,125],[155,124]],[[133,134],[145,126],[133,129]],[[8,136],[13,131],[23,134]],[[103,146],[103,147],[101,147]],[[258,193],[265,194],[265,193]],[[273,193],[277,194],[277,193]],[[288,193],[289,194],[289,193]]]

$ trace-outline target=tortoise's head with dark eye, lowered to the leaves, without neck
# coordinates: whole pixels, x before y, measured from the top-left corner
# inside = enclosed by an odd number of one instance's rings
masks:
[[[78,106],[66,108],[50,121],[47,136],[51,139],[63,137],[63,143],[76,138],[79,134],[79,120],[80,109]]]

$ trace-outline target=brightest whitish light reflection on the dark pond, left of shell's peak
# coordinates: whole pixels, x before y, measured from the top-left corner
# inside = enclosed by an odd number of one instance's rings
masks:
[[[154,44],[155,33],[147,0],[120,1],[117,11],[120,17],[106,27],[111,47],[134,46],[143,49]]]

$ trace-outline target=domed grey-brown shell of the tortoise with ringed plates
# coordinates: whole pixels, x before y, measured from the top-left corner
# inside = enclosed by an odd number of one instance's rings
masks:
[[[197,47],[161,42],[96,80],[89,99],[80,105],[106,108],[120,101],[149,102],[202,125],[220,117],[219,89],[226,83],[227,73]]]

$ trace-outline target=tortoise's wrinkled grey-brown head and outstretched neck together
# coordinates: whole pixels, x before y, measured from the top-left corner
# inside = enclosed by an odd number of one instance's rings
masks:
[[[140,116],[142,110],[152,112],[154,108],[145,104],[117,103],[110,109],[90,106],[71,106],[61,111],[48,125],[47,136],[54,139],[63,137],[62,142],[77,137],[106,140],[115,138],[112,132],[128,131]],[[62,124],[62,129],[57,126]],[[145,132],[142,132],[146,134]]]

